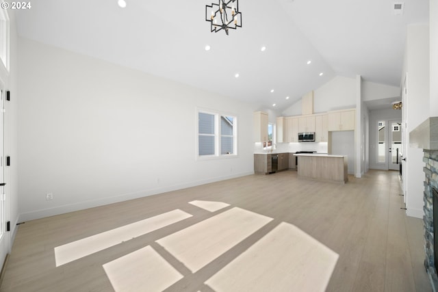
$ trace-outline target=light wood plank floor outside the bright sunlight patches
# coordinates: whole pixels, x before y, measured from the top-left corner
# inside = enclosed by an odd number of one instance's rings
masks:
[[[183,275],[166,291],[211,292],[205,282],[280,222],[339,254],[326,291],[432,291],[423,266],[422,220],[404,215],[399,193],[397,172],[371,170],[340,185],[299,180],[296,172],[286,171],[25,222],[18,227],[0,291],[114,291],[103,265],[150,245]],[[210,212],[188,204],[193,200],[230,206]],[[194,274],[157,243],[234,207],[273,220]],[[175,209],[192,217],[55,266],[57,246]]]

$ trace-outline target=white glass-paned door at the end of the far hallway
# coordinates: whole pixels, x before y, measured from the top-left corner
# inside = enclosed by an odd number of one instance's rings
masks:
[[[402,152],[402,121],[389,120],[388,169],[400,170]]]

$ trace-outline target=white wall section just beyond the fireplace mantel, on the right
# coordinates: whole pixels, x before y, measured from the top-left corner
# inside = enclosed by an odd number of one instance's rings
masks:
[[[404,200],[407,215],[422,217],[423,211],[423,151],[409,146],[409,132],[428,118],[430,105],[429,88],[429,27],[428,25],[409,25],[405,51],[404,76],[407,76],[407,98],[404,101],[406,115],[403,123],[406,127],[407,158],[404,169]]]

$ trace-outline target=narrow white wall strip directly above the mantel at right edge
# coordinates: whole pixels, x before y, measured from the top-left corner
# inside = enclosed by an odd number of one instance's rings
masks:
[[[430,116],[438,116],[438,0],[430,0]]]

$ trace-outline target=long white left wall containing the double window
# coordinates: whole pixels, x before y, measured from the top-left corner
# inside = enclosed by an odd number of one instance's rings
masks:
[[[253,105],[19,41],[21,221],[253,173]],[[237,116],[237,158],[196,161],[196,107]]]

